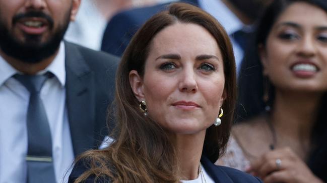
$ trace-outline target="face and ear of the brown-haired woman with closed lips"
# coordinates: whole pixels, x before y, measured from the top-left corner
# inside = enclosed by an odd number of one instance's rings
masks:
[[[223,58],[216,40],[203,27],[176,23],[150,45],[145,74],[129,75],[148,114],[172,133],[204,131],[218,117],[224,93]]]

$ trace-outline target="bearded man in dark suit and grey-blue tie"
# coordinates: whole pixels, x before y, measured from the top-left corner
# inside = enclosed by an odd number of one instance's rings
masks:
[[[80,1],[0,0],[1,183],[61,182],[106,135],[118,58],[62,41]]]

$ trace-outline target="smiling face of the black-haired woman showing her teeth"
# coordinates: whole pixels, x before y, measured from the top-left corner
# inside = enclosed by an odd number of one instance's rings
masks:
[[[327,14],[307,3],[291,4],[261,49],[264,75],[277,90],[327,90]]]

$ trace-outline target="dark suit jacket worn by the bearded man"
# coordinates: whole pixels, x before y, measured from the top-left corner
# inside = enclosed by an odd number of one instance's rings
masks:
[[[96,148],[107,134],[107,107],[114,94],[119,59],[64,42],[66,106],[75,156]]]

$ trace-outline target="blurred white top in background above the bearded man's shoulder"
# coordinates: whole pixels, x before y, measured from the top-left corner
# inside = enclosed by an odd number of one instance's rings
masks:
[[[93,50],[100,50],[107,20],[93,0],[81,1],[75,22],[71,22],[64,39]]]

